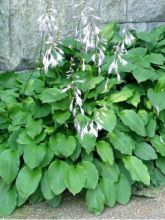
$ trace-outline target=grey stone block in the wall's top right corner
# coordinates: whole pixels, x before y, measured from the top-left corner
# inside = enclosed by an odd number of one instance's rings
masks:
[[[128,0],[127,21],[165,21],[165,0]]]

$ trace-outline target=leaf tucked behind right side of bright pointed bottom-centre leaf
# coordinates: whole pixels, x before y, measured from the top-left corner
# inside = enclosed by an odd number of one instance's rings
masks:
[[[95,189],[99,179],[98,171],[95,165],[89,161],[83,161],[82,166],[86,172],[85,188]]]

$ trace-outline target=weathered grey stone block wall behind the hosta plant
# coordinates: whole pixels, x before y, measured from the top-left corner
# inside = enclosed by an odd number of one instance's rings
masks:
[[[73,34],[73,5],[79,0],[0,0],[0,70],[33,67],[39,57],[41,35],[37,18],[55,6],[63,35]],[[165,24],[165,0],[88,0],[102,24],[150,30]]]

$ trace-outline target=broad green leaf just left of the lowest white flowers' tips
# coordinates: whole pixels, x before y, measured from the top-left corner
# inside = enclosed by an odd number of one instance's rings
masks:
[[[49,146],[56,156],[69,157],[76,149],[76,140],[73,136],[65,136],[62,133],[51,136]]]

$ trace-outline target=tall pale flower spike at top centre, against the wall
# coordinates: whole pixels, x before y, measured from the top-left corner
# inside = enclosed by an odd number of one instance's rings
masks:
[[[81,25],[78,30],[78,40],[84,45],[84,51],[94,50],[92,61],[97,64],[98,71],[101,73],[101,66],[104,62],[104,52],[107,45],[106,40],[100,34],[100,28],[96,25],[100,18],[95,16],[94,9],[83,0],[75,6],[81,8]],[[77,18],[77,17],[76,17]],[[85,71],[85,60],[83,60],[82,70]]]

